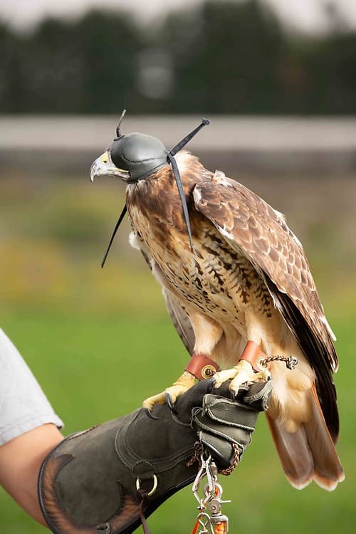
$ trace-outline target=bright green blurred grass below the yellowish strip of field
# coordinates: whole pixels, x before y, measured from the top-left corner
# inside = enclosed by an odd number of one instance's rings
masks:
[[[346,310],[347,311],[347,310]],[[135,409],[143,398],[172,382],[182,370],[184,353],[169,319],[164,315],[91,315],[37,310],[9,313],[3,327],[16,342],[38,377],[58,414],[65,434],[85,429]],[[355,352],[354,325],[340,317],[335,330],[342,367],[337,375],[342,431],[338,448],[346,481],[333,493],[312,485],[291,488],[283,475],[266,422],[260,417],[253,443],[229,478],[221,477],[224,506],[231,531],[250,533],[347,532],[355,513],[353,425],[356,390],[351,369]],[[167,365],[162,365],[167,362]],[[159,372],[157,372],[159,370]],[[178,534],[194,523],[194,498],[186,488],[150,518],[153,532]],[[41,533],[11,498],[0,498],[1,532]]]

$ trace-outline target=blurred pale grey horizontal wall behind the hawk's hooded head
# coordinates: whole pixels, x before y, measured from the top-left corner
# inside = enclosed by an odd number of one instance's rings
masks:
[[[115,137],[116,116],[1,116],[0,172],[83,174]],[[352,174],[354,117],[210,116],[189,150],[210,169],[242,174]],[[127,115],[122,132],[155,135],[175,145],[199,116]]]

